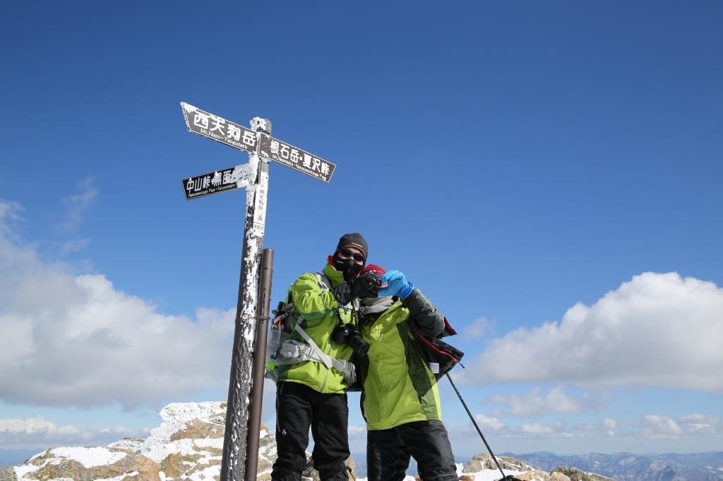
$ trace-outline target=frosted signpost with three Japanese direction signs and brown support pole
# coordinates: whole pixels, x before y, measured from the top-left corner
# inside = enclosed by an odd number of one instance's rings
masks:
[[[181,108],[190,132],[249,154],[247,164],[195,175],[181,182],[187,200],[247,189],[221,481],[255,481],[273,264],[273,251],[263,248],[268,162],[273,160],[326,183],[336,165],[272,137],[267,118],[254,117],[251,129],[247,129],[187,103],[181,102]]]

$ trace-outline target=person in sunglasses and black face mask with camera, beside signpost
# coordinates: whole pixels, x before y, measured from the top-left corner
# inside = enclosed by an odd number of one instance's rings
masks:
[[[322,273],[302,274],[288,290],[293,327],[276,355],[276,446],[273,481],[300,481],[307,467],[309,427],[321,481],[346,481],[349,457],[346,389],[354,377],[348,336],[356,332],[355,298],[376,295],[377,277],[359,277],[367,261],[359,233],[341,237]],[[346,330],[344,330],[346,329]],[[358,336],[357,336],[358,337]],[[336,340],[335,340],[336,339]],[[361,338],[359,338],[361,340]],[[339,342],[341,341],[341,342]]]

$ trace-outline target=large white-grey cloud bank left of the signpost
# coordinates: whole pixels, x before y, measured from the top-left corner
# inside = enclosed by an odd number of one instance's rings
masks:
[[[233,309],[164,315],[101,274],[43,263],[12,238],[17,209],[0,201],[0,399],[132,408],[228,382]]]

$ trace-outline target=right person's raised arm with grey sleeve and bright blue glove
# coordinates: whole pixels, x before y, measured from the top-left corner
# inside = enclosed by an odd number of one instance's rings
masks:
[[[432,301],[422,294],[414,284],[408,282],[399,271],[389,271],[381,279],[388,287],[380,289],[379,295],[396,295],[409,311],[409,317],[416,321],[419,330],[431,337],[437,337],[445,330],[445,316],[435,308]]]

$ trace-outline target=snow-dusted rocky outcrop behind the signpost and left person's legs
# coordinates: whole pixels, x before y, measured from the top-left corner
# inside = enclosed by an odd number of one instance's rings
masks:
[[[147,439],[48,449],[22,466],[0,469],[0,481],[218,481],[226,403],[168,404],[161,410],[161,418],[163,423],[151,430]],[[257,480],[269,481],[278,455],[275,437],[264,425],[259,444]],[[350,457],[346,464],[356,476],[354,459]],[[319,480],[310,457],[304,477]]]

